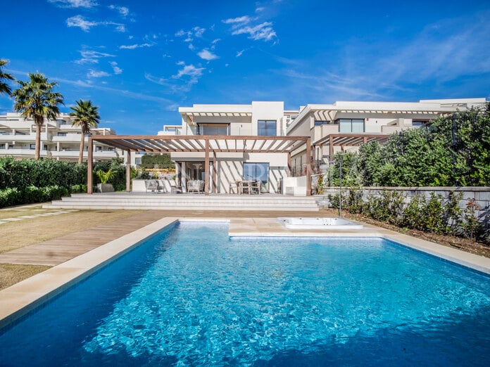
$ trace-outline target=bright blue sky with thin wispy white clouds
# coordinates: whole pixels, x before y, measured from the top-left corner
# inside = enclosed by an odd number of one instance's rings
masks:
[[[490,97],[489,1],[2,1],[0,58],[156,134],[194,103]],[[15,88],[15,84],[12,85]],[[0,96],[0,114],[13,101]]]

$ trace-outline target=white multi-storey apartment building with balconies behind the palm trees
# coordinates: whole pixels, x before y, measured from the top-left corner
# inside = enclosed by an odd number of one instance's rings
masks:
[[[78,160],[82,129],[72,126],[72,122],[73,117],[66,113],[58,115],[56,120],[45,120],[41,132],[41,157],[73,162]],[[18,113],[0,115],[0,157],[34,158],[36,129],[34,120],[26,119]],[[92,134],[115,135],[115,131],[98,127],[92,129]],[[84,160],[87,160],[87,136],[85,142]],[[94,145],[93,154],[94,160],[99,162],[123,156],[122,150],[102,143]]]

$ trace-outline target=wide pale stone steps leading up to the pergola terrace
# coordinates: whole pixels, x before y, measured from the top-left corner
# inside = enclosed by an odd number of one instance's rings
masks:
[[[138,209],[138,210],[238,210],[238,211],[313,211],[315,198],[282,195],[202,195],[158,193],[73,194],[54,200],[50,209]]]

